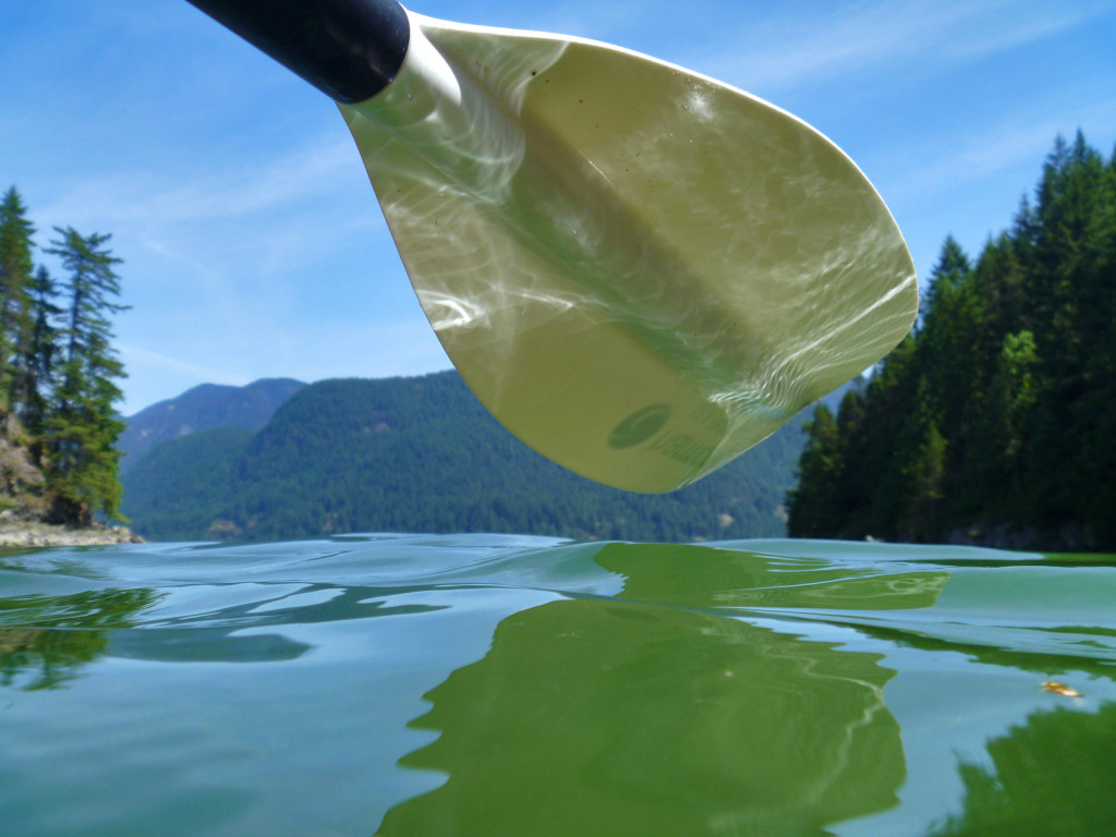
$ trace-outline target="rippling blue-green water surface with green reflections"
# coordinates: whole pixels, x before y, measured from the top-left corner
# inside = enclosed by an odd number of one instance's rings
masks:
[[[1116,835],[1116,558],[8,550],[0,834]]]

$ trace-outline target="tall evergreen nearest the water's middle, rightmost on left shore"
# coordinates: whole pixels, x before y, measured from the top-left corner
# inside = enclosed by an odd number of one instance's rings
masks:
[[[121,292],[114,268],[121,260],[106,248],[110,237],[55,230],[60,238],[47,252],[66,269],[65,327],[54,408],[44,422],[47,488],[56,520],[87,525],[97,513],[119,517],[115,445],[125,424],[115,413],[122,397],[115,382],[125,373],[110,344],[108,316],[126,306],[114,301]]]

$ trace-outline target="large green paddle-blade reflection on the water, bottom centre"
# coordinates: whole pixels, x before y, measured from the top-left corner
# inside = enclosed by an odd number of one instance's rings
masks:
[[[381,834],[824,835],[905,777],[879,657],[708,613],[607,599],[507,617],[425,696],[446,782]]]

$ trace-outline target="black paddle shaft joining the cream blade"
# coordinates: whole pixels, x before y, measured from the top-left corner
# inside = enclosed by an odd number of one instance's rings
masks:
[[[187,0],[343,104],[398,73],[411,26],[395,0]]]

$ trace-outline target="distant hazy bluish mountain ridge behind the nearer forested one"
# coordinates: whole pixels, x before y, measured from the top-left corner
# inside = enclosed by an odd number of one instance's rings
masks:
[[[202,384],[176,398],[161,401],[125,419],[127,430],[118,448],[124,453],[122,471],[127,471],[152,446],[210,427],[259,430],[276,407],[306,384],[292,378],[261,378],[247,386]]]

